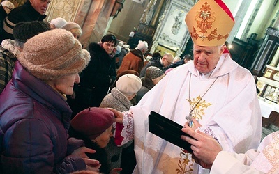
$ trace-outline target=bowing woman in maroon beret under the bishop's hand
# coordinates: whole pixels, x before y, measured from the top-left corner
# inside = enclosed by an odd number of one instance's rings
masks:
[[[70,136],[84,140],[87,148],[96,150],[89,154],[90,159],[100,161],[100,173],[117,173],[121,168],[107,166],[107,152],[105,147],[112,137],[112,123],[114,113],[109,109],[92,107],[84,109],[70,121]]]

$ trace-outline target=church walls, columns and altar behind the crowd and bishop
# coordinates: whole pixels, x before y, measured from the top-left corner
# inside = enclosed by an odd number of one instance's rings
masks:
[[[21,6],[24,0],[10,0]],[[52,0],[46,22],[62,17],[80,24],[86,47],[112,33],[133,49],[139,40],[149,52],[193,55],[193,42],[184,22],[198,0]],[[224,0],[235,24],[227,39],[232,59],[250,70],[257,81],[263,126],[279,126],[279,3],[278,0]],[[276,118],[277,116],[277,118]],[[273,128],[270,128],[273,129]],[[276,128],[277,129],[277,128]],[[266,130],[266,134],[269,130]]]

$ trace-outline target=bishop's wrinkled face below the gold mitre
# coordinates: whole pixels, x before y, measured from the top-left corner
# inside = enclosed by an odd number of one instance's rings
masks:
[[[217,65],[225,49],[224,45],[216,47],[201,47],[194,45],[194,65],[202,74],[208,74]]]

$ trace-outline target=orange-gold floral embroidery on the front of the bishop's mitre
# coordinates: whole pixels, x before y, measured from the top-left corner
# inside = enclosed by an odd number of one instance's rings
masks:
[[[204,40],[204,38],[207,38],[208,40],[221,40],[221,39],[227,39],[229,37],[229,33],[226,35],[220,35],[218,34],[218,29],[213,29],[210,33],[208,33],[209,29],[212,28],[213,22],[216,21],[216,17],[213,12],[211,12],[210,5],[205,2],[204,5],[202,5],[202,8],[200,8],[199,13],[195,17],[195,21],[197,22],[197,28],[200,29],[199,33],[197,33],[197,29],[195,29],[195,26],[193,26],[193,31],[190,32],[190,35],[192,38],[201,38],[201,40]],[[207,34],[207,35],[206,35]]]

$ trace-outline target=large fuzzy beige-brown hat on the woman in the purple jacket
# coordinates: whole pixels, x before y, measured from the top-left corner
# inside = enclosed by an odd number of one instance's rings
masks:
[[[17,59],[33,76],[50,80],[81,72],[90,54],[72,33],[55,29],[27,40]]]

